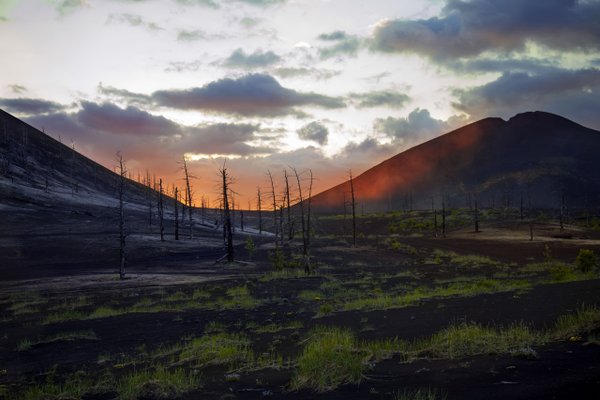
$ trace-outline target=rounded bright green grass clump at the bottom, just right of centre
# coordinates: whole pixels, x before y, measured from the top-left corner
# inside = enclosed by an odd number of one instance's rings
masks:
[[[344,383],[360,382],[365,368],[363,354],[357,351],[357,340],[350,330],[317,327],[308,335],[291,386],[319,392],[333,390]]]

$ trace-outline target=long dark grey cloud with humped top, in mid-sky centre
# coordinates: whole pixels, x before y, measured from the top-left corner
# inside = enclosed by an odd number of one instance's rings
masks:
[[[299,106],[345,107],[338,98],[287,89],[266,74],[224,78],[186,90],[161,90],[152,98],[164,107],[262,117],[297,114]]]

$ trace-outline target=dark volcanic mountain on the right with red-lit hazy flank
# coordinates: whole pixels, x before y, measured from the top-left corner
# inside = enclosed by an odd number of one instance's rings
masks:
[[[355,178],[367,211],[452,207],[475,198],[485,207],[572,207],[600,201],[600,132],[545,112],[508,121],[486,118],[404,151]],[[313,198],[318,211],[338,212],[349,182]]]

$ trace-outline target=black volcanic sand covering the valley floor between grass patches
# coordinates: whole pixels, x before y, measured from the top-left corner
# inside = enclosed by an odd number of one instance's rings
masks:
[[[75,371],[98,376],[108,368],[117,378],[143,369],[145,364],[140,358],[143,352],[181,343],[186,337],[201,336],[213,321],[224,324],[227,332],[250,337],[255,354],[275,351],[284,360],[294,360],[308,331],[319,325],[348,327],[364,340],[394,337],[411,340],[461,321],[491,326],[522,321],[544,330],[558,316],[573,313],[582,304],[600,305],[598,279],[552,284],[538,280],[535,287],[525,291],[437,298],[404,308],[335,311],[321,316],[319,310],[327,299],[302,298],[302,292],[322,291],[324,283],[343,283],[346,288],[363,291],[373,287],[387,290],[398,285],[430,286],[436,280],[493,277],[498,272],[490,266],[465,267],[447,261],[433,264],[430,262],[433,249],[488,255],[505,263],[520,259],[527,260],[522,262],[525,264],[543,259],[540,243],[502,243],[502,249],[498,250],[499,245],[494,242],[453,239],[452,235],[446,239],[399,236],[402,243],[413,246],[416,252],[391,250],[382,245],[385,235],[377,235],[375,229],[371,236],[360,239],[360,247],[356,249],[348,247],[348,237],[316,238],[313,256],[318,275],[271,281],[260,280],[272,271],[269,261],[272,244],[268,238],[255,238],[258,250],[249,261],[244,250],[245,237],[239,235],[236,251],[239,259],[246,262],[224,265],[214,263],[223,250],[219,235],[209,229],[195,232],[195,240],[200,242],[205,238],[212,244],[209,247],[190,246],[189,241],[177,244],[172,238],[162,243],[156,240],[155,230],[148,230],[148,235],[154,236],[151,239],[132,237],[130,279],[121,282],[116,280],[114,267],[107,266],[114,265],[116,260],[115,247],[108,246],[113,233],[106,236],[96,231],[86,232],[79,222],[96,217],[85,213],[74,215],[79,218],[71,220],[73,227],[79,229],[76,234],[55,228],[57,232],[51,235],[41,227],[39,235],[20,232],[3,236],[4,240],[19,241],[18,248],[23,249],[20,255],[5,254],[2,264],[0,385],[3,386],[0,387],[8,395],[24,388],[25,382],[43,380],[53,366],[58,366],[59,376]],[[321,234],[327,233],[326,225],[318,225]],[[88,241],[93,245],[82,249]],[[568,241],[551,245],[556,258],[571,261],[580,247]],[[299,252],[299,243],[294,246],[294,251]],[[507,268],[502,271],[511,274],[516,267],[511,264]],[[384,274],[388,277],[378,278]],[[532,277],[537,278],[540,277],[535,274]],[[86,284],[89,281],[92,284]],[[195,289],[219,298],[228,289],[240,286],[246,286],[261,304],[246,310],[181,309],[42,324],[53,307],[81,296],[85,302],[77,310],[87,314],[100,306],[118,309],[132,306],[140,299],[160,299],[176,292],[189,296]],[[15,314],[10,307],[19,301],[31,302],[32,310]],[[275,333],[255,332],[257,326],[291,321],[301,322],[301,327]],[[28,350],[16,350],[24,339],[81,330],[92,330],[98,340],[43,343]],[[239,380],[228,382],[225,376],[231,372],[229,368],[211,366],[200,371],[202,388],[183,398],[393,399],[404,389],[431,387],[447,394],[448,399],[595,399],[600,393],[600,346],[586,344],[585,339],[536,347],[539,358],[534,360],[489,355],[403,363],[396,356],[372,365],[359,385],[343,385],[327,393],[289,392],[293,367],[238,371]],[[131,360],[139,364],[132,364]],[[112,397],[114,393],[89,398]]]

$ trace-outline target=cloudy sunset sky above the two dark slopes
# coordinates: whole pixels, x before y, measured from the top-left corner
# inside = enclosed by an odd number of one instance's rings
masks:
[[[596,0],[0,0],[0,108],[108,168],[238,204],[319,192],[485,117],[600,129]],[[213,200],[214,201],[214,200]]]

